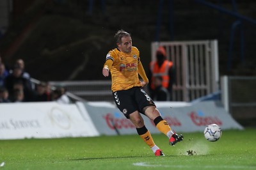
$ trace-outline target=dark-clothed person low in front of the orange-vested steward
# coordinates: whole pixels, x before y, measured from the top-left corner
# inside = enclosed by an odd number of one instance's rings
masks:
[[[162,86],[162,81],[163,79],[161,76],[156,76],[154,78],[155,89],[152,93],[152,98],[156,101],[169,101],[170,93],[166,88]]]

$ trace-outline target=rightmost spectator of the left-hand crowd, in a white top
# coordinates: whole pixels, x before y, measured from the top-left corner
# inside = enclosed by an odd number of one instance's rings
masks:
[[[70,104],[70,99],[65,93],[64,88],[54,89],[54,91],[52,91],[52,101],[56,101],[59,104]]]

